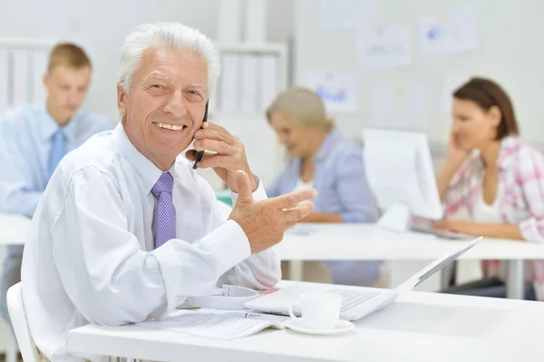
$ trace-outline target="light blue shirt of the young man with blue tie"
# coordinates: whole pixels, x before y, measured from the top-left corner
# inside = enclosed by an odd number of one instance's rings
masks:
[[[47,186],[53,133],[61,127],[44,106],[28,105],[0,120],[0,212],[32,218]],[[81,146],[94,133],[111,130],[105,116],[80,111],[63,127],[66,151]],[[22,248],[10,248],[21,253]]]

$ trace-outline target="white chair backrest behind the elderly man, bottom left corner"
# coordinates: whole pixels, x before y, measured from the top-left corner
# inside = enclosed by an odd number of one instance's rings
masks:
[[[32,339],[26,321],[26,313],[24,312],[21,283],[17,283],[7,290],[6,299],[9,318],[12,320],[15,338],[17,338],[17,344],[19,345],[19,350],[21,351],[24,362],[38,362],[40,360],[38,348],[34,345],[34,340]]]

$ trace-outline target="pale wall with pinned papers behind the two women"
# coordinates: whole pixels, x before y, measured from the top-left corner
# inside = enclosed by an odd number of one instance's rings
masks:
[[[296,0],[296,79],[308,70],[355,72],[360,110],[338,115],[340,129],[361,134],[370,125],[372,93],[379,86],[422,86],[430,92],[431,124],[426,131],[432,142],[445,144],[451,115],[440,112],[443,77],[446,73],[491,77],[503,85],[520,120],[521,138],[540,147],[544,122],[541,103],[544,94],[544,31],[540,0],[378,0],[378,26],[409,25],[412,29],[413,64],[364,72],[358,66],[355,29],[325,32],[320,24],[320,6],[314,0]],[[424,57],[417,43],[419,16],[471,8],[476,16],[479,48],[462,54]]]

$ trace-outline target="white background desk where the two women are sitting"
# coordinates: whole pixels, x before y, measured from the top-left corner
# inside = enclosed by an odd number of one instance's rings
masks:
[[[466,242],[427,234],[394,234],[375,230],[370,224],[299,224],[297,227],[311,232],[308,235],[287,232],[282,242],[282,259],[290,260],[289,278],[293,280],[302,279],[304,260],[432,260]],[[521,299],[525,284],[523,261],[544,259],[544,245],[485,238],[460,259],[508,261],[507,297]]]

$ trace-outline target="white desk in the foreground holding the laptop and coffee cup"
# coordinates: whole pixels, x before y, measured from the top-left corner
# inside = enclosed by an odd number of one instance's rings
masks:
[[[283,282],[285,285],[285,282]],[[73,353],[157,361],[512,361],[544,354],[544,303],[409,292],[338,336],[268,329],[232,341],[134,326],[68,333]]]

